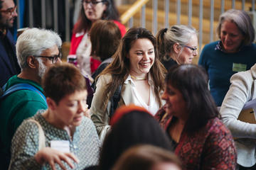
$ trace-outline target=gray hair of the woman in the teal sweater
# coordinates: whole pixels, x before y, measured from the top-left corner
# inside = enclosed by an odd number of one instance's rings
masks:
[[[230,9],[225,11],[220,15],[218,27],[217,27],[217,35],[220,38],[220,29],[221,24],[224,21],[230,21],[235,23],[238,26],[238,29],[241,31],[244,36],[244,40],[242,41],[242,45],[250,45],[255,40],[255,29],[252,26],[252,21],[250,16],[242,10],[238,9]]]

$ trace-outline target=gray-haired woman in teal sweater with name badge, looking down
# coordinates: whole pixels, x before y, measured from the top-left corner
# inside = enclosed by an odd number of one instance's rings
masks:
[[[217,28],[220,40],[206,45],[198,64],[209,75],[210,94],[221,106],[230,86],[230,77],[256,63],[255,30],[245,11],[230,9],[221,14]]]

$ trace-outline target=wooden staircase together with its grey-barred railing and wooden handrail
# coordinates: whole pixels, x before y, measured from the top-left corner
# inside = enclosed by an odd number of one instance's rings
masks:
[[[129,6],[129,4],[120,7],[120,11],[124,9],[124,6]],[[160,10],[158,6],[161,6]],[[187,8],[186,13],[184,13],[185,6]],[[170,8],[172,8],[171,11],[169,11]],[[183,8],[182,13],[181,8]],[[195,11],[195,8],[197,11]],[[169,28],[174,24],[193,26],[199,33],[198,49],[201,52],[204,44],[216,40],[215,29],[218,24],[218,16],[230,8],[252,11],[252,18],[255,20],[255,0],[137,0],[122,14],[121,21],[130,28],[133,26],[133,20],[136,23],[139,17],[140,22],[144,23],[140,26],[151,30],[154,35],[156,35],[159,28]],[[140,10],[141,13],[139,13]],[[152,24],[152,28],[145,24],[144,18]],[[128,22],[129,24],[127,24]],[[253,22],[253,24],[256,27],[256,22]],[[138,26],[137,24],[134,25]]]

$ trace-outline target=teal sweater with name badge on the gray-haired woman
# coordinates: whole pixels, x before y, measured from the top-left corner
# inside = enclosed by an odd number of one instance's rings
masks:
[[[230,87],[230,77],[250,69],[256,63],[256,45],[242,47],[239,52],[225,53],[217,49],[219,41],[203,47],[198,64],[208,72],[210,94],[217,106],[221,106]]]

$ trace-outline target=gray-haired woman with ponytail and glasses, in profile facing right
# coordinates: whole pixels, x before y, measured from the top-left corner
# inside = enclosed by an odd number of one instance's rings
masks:
[[[191,64],[198,55],[196,29],[190,26],[174,25],[163,28],[156,35],[159,59],[166,69],[173,64]]]

